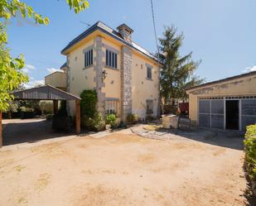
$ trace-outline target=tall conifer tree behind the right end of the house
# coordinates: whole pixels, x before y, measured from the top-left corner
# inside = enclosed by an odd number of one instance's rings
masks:
[[[182,34],[176,34],[174,26],[166,27],[163,37],[159,39],[160,60],[163,67],[160,71],[160,94],[165,103],[174,105],[176,99],[185,99],[186,89],[201,84],[204,79],[194,75],[200,61],[191,59],[192,52],[181,56]]]

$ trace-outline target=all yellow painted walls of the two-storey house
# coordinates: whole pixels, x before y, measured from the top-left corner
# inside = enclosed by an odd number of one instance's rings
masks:
[[[74,48],[69,50],[69,53],[65,55],[69,56],[70,60],[70,93],[80,96],[80,93],[84,89],[94,89],[96,86],[94,82],[95,71],[93,67],[88,69],[84,68],[84,53],[83,50],[94,44],[94,38],[96,36],[102,37],[103,46],[103,60],[104,68],[108,75],[104,79],[105,87],[102,88],[102,92],[105,93],[106,98],[118,98],[121,103],[121,46],[120,41],[114,40],[112,37],[99,32],[94,31],[93,34],[86,37],[83,41],[80,41]],[[118,50],[118,69],[109,69],[105,66],[105,46],[113,47]],[[94,57],[95,57],[94,50]],[[147,69],[146,63],[152,65],[152,80],[146,79]],[[96,62],[94,61],[94,65]],[[142,69],[141,69],[142,65]],[[154,103],[154,113],[152,116],[157,116],[157,103],[159,95],[159,79],[158,69],[156,62],[147,58],[145,55],[140,54],[138,51],[133,50],[133,113],[136,113],[138,117],[146,117],[146,99],[152,99]],[[87,79],[85,79],[87,77]],[[143,82],[143,84],[142,84]],[[70,101],[70,113],[75,114],[75,103]],[[119,113],[120,105],[119,105]]]

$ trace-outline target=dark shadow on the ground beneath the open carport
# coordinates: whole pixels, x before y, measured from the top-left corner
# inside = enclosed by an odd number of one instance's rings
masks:
[[[56,132],[51,128],[51,120],[29,119],[14,122],[3,122],[3,146],[23,142],[33,143],[45,139],[65,137],[74,132]]]

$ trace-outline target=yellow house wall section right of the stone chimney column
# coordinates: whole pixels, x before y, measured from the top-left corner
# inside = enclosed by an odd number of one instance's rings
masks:
[[[146,63],[152,66],[152,80],[147,79]],[[138,117],[146,117],[146,99],[153,100],[154,113],[152,116],[157,116],[159,96],[158,75],[157,65],[133,51],[133,113],[137,114]]]

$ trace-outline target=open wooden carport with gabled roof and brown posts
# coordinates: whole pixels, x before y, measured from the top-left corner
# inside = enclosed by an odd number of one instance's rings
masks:
[[[11,93],[15,100],[53,100],[54,114],[58,111],[59,100],[75,101],[75,132],[80,134],[80,98],[51,85],[25,89]],[[0,117],[0,147],[2,146],[2,114]]]

